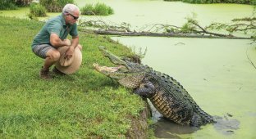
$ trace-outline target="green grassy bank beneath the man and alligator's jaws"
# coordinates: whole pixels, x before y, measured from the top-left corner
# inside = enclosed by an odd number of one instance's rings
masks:
[[[110,38],[80,32],[80,70],[43,80],[39,78],[43,59],[30,48],[42,26],[1,17],[0,138],[124,138],[129,117],[139,115],[143,101],[94,71],[93,63],[110,65],[99,45],[119,56],[130,50]]]

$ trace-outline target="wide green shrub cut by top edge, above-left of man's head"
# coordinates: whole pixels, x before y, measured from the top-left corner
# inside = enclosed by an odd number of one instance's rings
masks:
[[[74,3],[74,0],[40,0],[39,3],[46,7],[48,12],[61,12],[67,3]]]

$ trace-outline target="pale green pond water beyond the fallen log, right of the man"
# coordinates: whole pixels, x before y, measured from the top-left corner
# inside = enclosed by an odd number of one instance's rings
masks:
[[[80,7],[86,3],[104,2],[115,11],[112,16],[103,17],[115,23],[127,22],[141,27],[150,24],[182,25],[185,17],[197,15],[201,25],[213,21],[227,22],[233,18],[252,15],[253,7],[237,4],[189,4],[164,2],[162,0],[76,0]],[[88,17],[87,17],[88,18]]]

